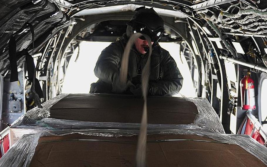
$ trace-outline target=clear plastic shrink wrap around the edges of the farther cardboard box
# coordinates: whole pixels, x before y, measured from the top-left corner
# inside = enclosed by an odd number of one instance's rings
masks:
[[[50,108],[60,101],[62,98],[65,98],[68,94],[61,94],[55,98],[50,99],[42,104],[43,108],[33,108],[28,111],[24,116],[18,119],[13,123],[12,127],[18,127],[23,125],[34,126],[34,127],[49,127],[49,128],[103,128],[104,127],[113,127],[114,124],[109,123],[99,123],[99,122],[84,122],[84,121],[72,121],[72,120],[58,120],[53,118],[48,118],[50,116]],[[92,95],[94,96],[94,95]],[[209,104],[206,98],[186,98],[187,101],[192,101],[198,109],[198,115],[196,115],[194,123],[189,125],[171,125],[172,128],[175,127],[184,127],[192,126],[193,129],[201,128],[208,129],[209,131],[216,133],[225,133],[223,126],[220,122],[220,119],[212,106]],[[44,119],[47,118],[47,119]],[[120,123],[121,126],[118,128],[138,128],[138,123]],[[116,124],[117,125],[117,124]],[[162,127],[170,127],[170,125],[161,125]],[[150,124],[148,127],[152,128],[153,124]],[[22,128],[22,127],[21,127]],[[26,127],[25,127],[26,128]],[[27,127],[29,128],[29,127]]]

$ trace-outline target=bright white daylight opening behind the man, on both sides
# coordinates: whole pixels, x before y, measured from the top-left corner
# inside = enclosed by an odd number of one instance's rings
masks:
[[[77,61],[75,59],[78,49],[70,60],[62,93],[89,93],[90,85],[98,78],[94,75],[94,66],[101,51],[109,46],[110,42],[87,42],[80,43],[80,53]],[[170,52],[184,78],[180,93],[187,97],[196,97],[191,79],[191,74],[183,55],[180,56],[179,44],[160,43],[160,46]],[[181,96],[181,95],[176,95]]]

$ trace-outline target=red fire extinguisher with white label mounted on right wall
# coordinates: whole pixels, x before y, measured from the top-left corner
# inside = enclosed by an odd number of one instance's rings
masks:
[[[241,106],[243,110],[255,109],[254,81],[250,78],[250,72],[240,81]]]

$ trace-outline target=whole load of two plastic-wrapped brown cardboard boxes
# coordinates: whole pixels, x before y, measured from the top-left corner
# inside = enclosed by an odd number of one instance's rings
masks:
[[[135,166],[141,102],[114,94],[57,96],[13,124],[14,144],[0,166]],[[205,98],[149,97],[147,128],[146,166],[267,164],[267,148],[250,136],[225,134]]]

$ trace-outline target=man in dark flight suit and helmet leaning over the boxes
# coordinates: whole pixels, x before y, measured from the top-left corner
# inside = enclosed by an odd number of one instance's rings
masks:
[[[151,71],[148,95],[170,96],[182,88],[183,77],[169,52],[161,48],[158,42],[164,33],[163,19],[153,8],[140,7],[128,22],[126,33],[119,41],[111,43],[100,54],[94,74],[99,78],[91,84],[90,93],[126,93],[142,96],[141,74],[148,59],[148,41],[144,36],[138,38],[129,55],[127,88],[116,92],[116,80],[119,78],[124,48],[134,33],[146,34],[151,38]]]

